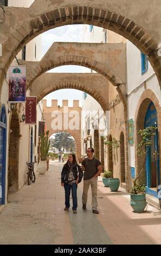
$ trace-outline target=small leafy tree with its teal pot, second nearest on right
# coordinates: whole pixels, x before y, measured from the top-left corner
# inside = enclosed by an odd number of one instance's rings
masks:
[[[113,149],[120,148],[121,141],[117,141],[116,138],[113,138],[112,141],[109,141],[109,137],[106,136],[106,137],[104,137],[104,144],[108,145],[109,156],[112,157]],[[113,171],[112,171],[112,174],[113,174]],[[112,192],[116,192],[120,186],[120,179],[113,178],[113,175],[112,175],[112,177],[109,178],[108,185]]]

